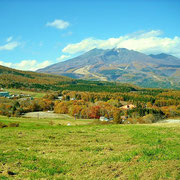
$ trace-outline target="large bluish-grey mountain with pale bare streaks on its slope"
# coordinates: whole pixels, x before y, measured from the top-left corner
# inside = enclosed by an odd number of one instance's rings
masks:
[[[134,83],[142,87],[180,87],[179,58],[168,54],[146,55],[125,48],[95,48],[73,59],[39,69],[38,72]]]

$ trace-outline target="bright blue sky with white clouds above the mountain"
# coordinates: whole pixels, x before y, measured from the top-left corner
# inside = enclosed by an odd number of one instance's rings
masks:
[[[180,57],[179,0],[0,0],[0,64],[36,70],[92,48]]]

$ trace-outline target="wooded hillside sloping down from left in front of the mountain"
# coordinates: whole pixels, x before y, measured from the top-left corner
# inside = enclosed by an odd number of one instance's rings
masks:
[[[31,91],[90,91],[90,92],[129,92],[138,89],[134,85],[76,80],[69,77],[20,71],[0,66],[0,88],[13,88]]]

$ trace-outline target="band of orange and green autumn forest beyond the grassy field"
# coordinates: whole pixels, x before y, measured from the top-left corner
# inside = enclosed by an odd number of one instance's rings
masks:
[[[139,89],[113,93],[63,90],[46,93],[42,98],[0,99],[0,114],[9,117],[48,110],[69,114],[75,119],[99,119],[103,116],[116,124],[153,123],[180,116],[180,91]]]

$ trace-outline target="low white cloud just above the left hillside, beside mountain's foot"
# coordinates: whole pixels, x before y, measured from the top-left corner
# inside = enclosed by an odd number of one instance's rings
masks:
[[[43,62],[37,62],[37,60],[22,60],[19,63],[10,63],[10,62],[3,62],[0,61],[0,65],[7,66],[10,68],[15,68],[19,70],[26,70],[26,71],[35,71],[37,69],[44,68],[51,64],[50,61],[46,60]]]

